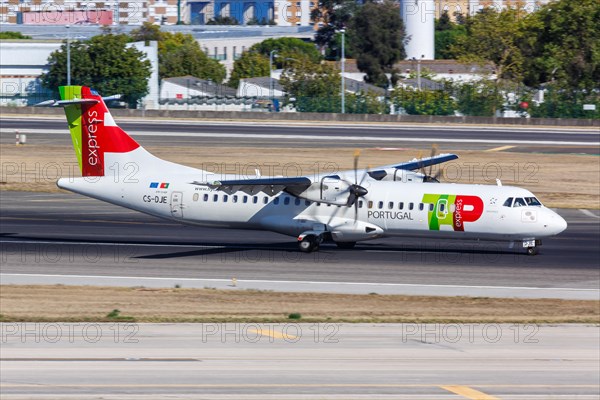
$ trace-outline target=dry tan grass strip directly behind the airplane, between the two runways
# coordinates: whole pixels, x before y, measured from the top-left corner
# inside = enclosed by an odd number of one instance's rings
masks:
[[[428,155],[425,147],[424,155]],[[149,147],[158,157],[174,162],[220,171],[314,174],[317,171],[352,168],[353,150],[348,148],[283,148],[283,147]],[[444,151],[453,151],[444,149]],[[446,163],[443,180],[457,183],[495,184],[498,177],[505,185],[525,187],[547,206],[561,208],[600,209],[600,158],[577,154],[531,154],[517,152],[455,151],[460,159]],[[365,149],[361,167],[379,166],[410,160],[418,149],[382,151]],[[69,176],[75,155],[70,146],[0,145],[3,190],[59,191],[58,176]],[[330,163],[327,166],[327,163]],[[226,167],[225,167],[226,166]],[[328,169],[329,168],[329,169]]]

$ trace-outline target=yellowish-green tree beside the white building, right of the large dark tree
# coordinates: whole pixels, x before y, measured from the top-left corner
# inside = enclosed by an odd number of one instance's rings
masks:
[[[161,79],[185,75],[210,79],[215,83],[225,79],[225,67],[208,57],[189,34],[162,32],[158,42],[158,57]]]

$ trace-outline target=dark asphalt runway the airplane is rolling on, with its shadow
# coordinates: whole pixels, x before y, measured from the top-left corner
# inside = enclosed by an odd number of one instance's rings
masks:
[[[598,211],[559,210],[569,228],[535,257],[398,238],[303,254],[294,238],[183,226],[77,195],[0,192],[0,203],[3,284],[600,298]]]

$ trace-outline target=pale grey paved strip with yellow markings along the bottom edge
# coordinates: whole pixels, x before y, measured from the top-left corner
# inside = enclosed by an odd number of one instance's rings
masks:
[[[600,396],[598,326],[5,323],[1,331],[3,399]]]

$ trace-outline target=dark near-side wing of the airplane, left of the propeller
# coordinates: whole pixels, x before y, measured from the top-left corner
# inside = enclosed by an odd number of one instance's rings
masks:
[[[236,179],[236,180],[224,180],[215,182],[192,182],[193,185],[207,186],[211,189],[222,190],[225,193],[232,194],[237,191],[242,191],[249,195],[255,195],[263,192],[269,196],[274,196],[281,191],[296,194],[302,193],[313,182],[306,177],[292,177],[292,178],[255,178],[255,179]]]

